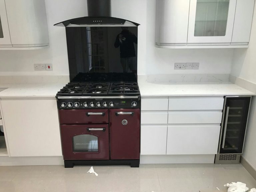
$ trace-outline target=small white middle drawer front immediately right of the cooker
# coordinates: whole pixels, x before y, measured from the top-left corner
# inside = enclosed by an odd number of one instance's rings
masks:
[[[168,112],[141,111],[141,124],[167,124]]]

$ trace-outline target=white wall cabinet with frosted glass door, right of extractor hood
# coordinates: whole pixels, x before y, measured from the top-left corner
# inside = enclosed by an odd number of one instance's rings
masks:
[[[253,9],[254,0],[159,0],[156,45],[248,47]]]

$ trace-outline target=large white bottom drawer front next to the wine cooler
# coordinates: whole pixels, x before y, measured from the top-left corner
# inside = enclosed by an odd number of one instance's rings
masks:
[[[168,126],[167,155],[217,154],[220,126]]]

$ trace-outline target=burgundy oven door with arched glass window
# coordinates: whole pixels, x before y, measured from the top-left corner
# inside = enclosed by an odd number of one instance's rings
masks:
[[[108,160],[109,131],[107,124],[61,125],[64,160]]]

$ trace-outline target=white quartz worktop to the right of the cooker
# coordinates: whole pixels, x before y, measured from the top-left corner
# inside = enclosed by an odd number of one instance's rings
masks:
[[[255,95],[230,82],[148,82],[138,77],[141,96],[239,96]]]

